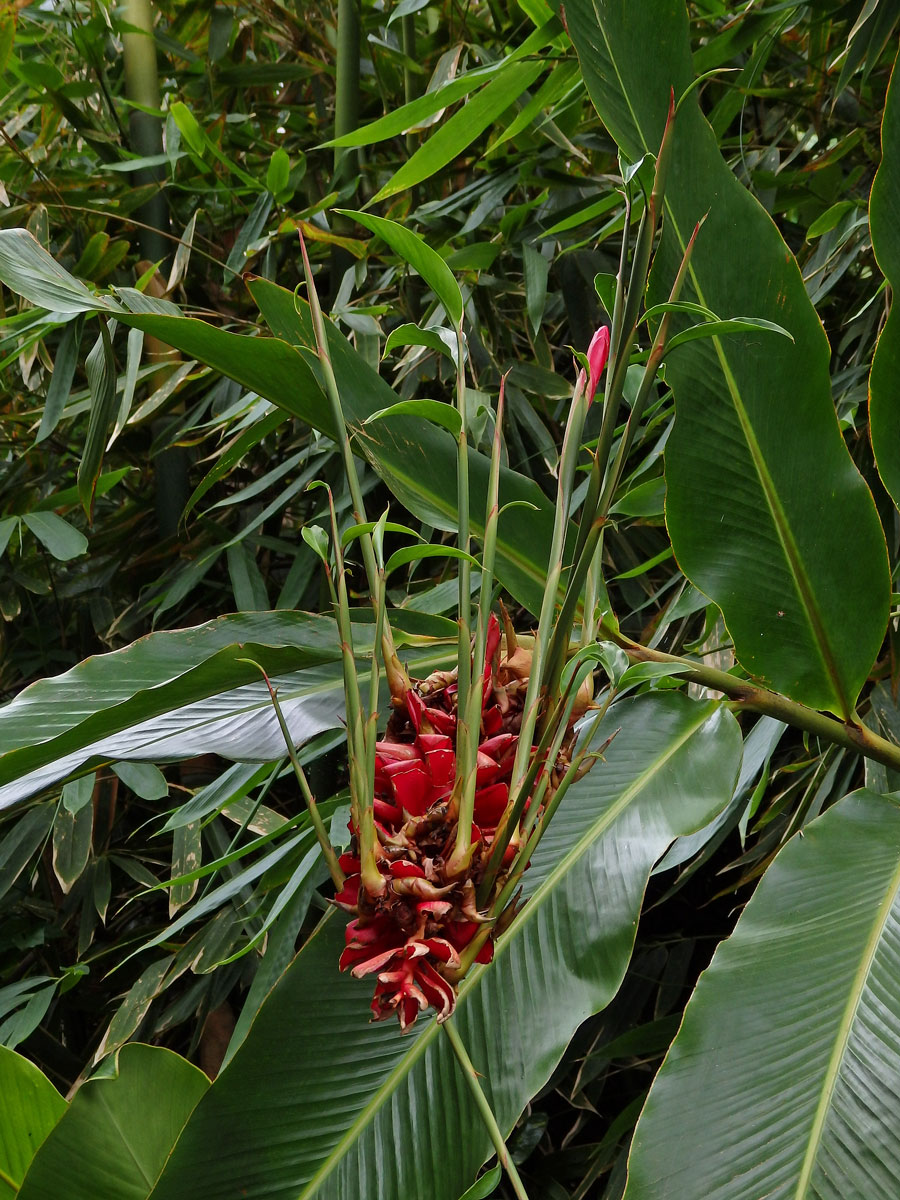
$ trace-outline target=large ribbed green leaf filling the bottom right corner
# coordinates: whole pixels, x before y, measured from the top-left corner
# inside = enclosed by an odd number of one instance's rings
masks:
[[[854,792],[769,868],[688,1004],[626,1200],[894,1200],[900,809]]]

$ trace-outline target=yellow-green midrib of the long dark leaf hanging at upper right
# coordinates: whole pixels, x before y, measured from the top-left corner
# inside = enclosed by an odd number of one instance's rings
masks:
[[[610,60],[610,64],[611,64],[613,71],[616,72],[616,78],[619,82],[619,91],[622,92],[622,96],[624,97],[624,101],[625,101],[625,104],[628,107],[628,110],[631,114],[631,119],[634,121],[635,130],[637,131],[638,136],[641,137],[641,139],[642,139],[642,142],[644,144],[644,148],[648,148],[649,146],[649,138],[644,133],[643,126],[642,126],[642,124],[641,124],[641,121],[640,121],[640,119],[637,116],[637,113],[635,112],[635,108],[634,108],[634,106],[631,103],[631,96],[630,96],[628,89],[625,88],[625,82],[622,78],[622,74],[619,72],[618,64],[616,61],[614,54],[612,53],[612,46],[610,44],[610,40],[606,36],[606,30],[604,29],[604,24],[602,24],[602,22],[600,19],[600,13],[598,12],[598,7],[596,7],[595,0],[593,2],[593,10],[594,10],[594,17],[596,18],[598,30],[599,30],[600,36],[602,37],[604,42],[606,43],[607,58]],[[665,208],[666,208],[666,211],[668,214],[668,217],[670,217],[670,220],[672,222],[672,229],[673,229],[673,232],[674,232],[674,234],[676,234],[676,236],[678,239],[678,244],[682,247],[682,252],[684,252],[684,250],[686,248],[688,242],[686,242],[686,240],[685,240],[685,238],[684,238],[684,235],[682,233],[682,229],[680,229],[680,227],[678,224],[678,221],[676,220],[676,215],[672,211],[672,205],[670,204],[668,200],[664,200],[664,203],[665,203]],[[691,264],[689,264],[688,270],[689,270],[689,274],[690,274],[690,277],[691,277],[691,282],[694,283],[694,286],[695,286],[695,288],[697,290],[697,298],[700,299],[700,302],[706,305],[706,299],[704,299],[703,289],[700,287],[700,281],[697,280],[697,275],[696,275],[695,268]],[[812,640],[815,642],[816,650],[817,650],[818,656],[820,656],[820,659],[822,661],[822,666],[824,667],[826,674],[832,680],[832,685],[834,688],[835,695],[836,695],[838,701],[840,702],[840,706],[841,706],[841,715],[844,716],[845,720],[851,720],[851,718],[853,715],[852,700],[847,696],[846,689],[844,686],[844,682],[842,682],[841,676],[840,676],[840,672],[838,671],[838,665],[836,665],[834,654],[832,652],[830,642],[829,642],[829,640],[828,640],[828,637],[826,635],[826,631],[824,631],[824,623],[823,623],[822,616],[821,616],[821,613],[818,611],[818,606],[817,606],[816,600],[815,600],[815,594],[814,594],[812,588],[810,586],[809,576],[806,575],[806,569],[805,569],[805,566],[803,564],[803,559],[800,558],[799,548],[797,546],[797,542],[794,541],[793,533],[792,533],[792,530],[790,528],[790,524],[787,522],[787,517],[785,515],[784,508],[781,506],[781,502],[779,499],[778,491],[775,488],[774,481],[773,481],[772,476],[769,475],[769,472],[768,472],[768,468],[766,467],[764,460],[762,458],[762,454],[760,451],[760,445],[758,445],[758,442],[756,440],[756,436],[755,436],[755,433],[752,431],[752,427],[750,425],[750,420],[749,420],[749,418],[746,415],[746,410],[745,410],[743,403],[740,402],[740,394],[739,394],[739,390],[738,390],[738,386],[737,386],[737,380],[734,379],[734,376],[732,374],[731,367],[728,365],[728,359],[727,359],[727,355],[725,354],[725,349],[722,347],[721,338],[713,337],[712,342],[713,342],[713,346],[715,348],[715,353],[716,353],[716,356],[719,359],[719,365],[720,365],[720,367],[722,370],[722,374],[725,376],[726,385],[728,388],[728,392],[731,395],[732,403],[734,406],[734,410],[736,410],[738,420],[740,422],[742,432],[744,433],[744,438],[746,440],[748,449],[750,451],[750,457],[752,458],[754,467],[756,468],[756,472],[757,472],[757,475],[758,475],[758,479],[760,479],[760,486],[762,488],[763,496],[766,497],[766,503],[767,503],[767,505],[769,508],[769,512],[772,514],[772,520],[773,520],[773,523],[775,526],[775,530],[778,533],[779,541],[781,542],[782,550],[785,552],[785,557],[787,559],[787,564],[788,564],[788,568],[791,570],[791,576],[792,576],[792,578],[794,581],[794,586],[796,586],[797,592],[798,592],[798,594],[800,596],[800,600],[803,601],[804,616],[805,616],[806,622],[809,624],[810,632],[812,634]]]

